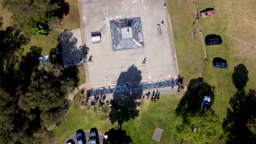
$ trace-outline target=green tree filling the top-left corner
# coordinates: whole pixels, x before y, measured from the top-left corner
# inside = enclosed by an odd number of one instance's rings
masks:
[[[54,16],[54,11],[60,11],[59,5],[51,0],[2,0],[1,4],[13,13],[15,25],[21,28],[26,36],[48,34],[48,20]]]

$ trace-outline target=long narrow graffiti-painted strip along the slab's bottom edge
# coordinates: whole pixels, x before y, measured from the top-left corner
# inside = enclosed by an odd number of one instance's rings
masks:
[[[102,95],[102,94],[110,94],[117,92],[126,92],[131,91],[132,89],[153,89],[153,88],[163,88],[163,87],[173,87],[177,86],[177,80],[155,80],[155,81],[147,81],[147,82],[131,82],[125,83],[117,86],[107,86],[100,88],[91,88],[90,95]]]

